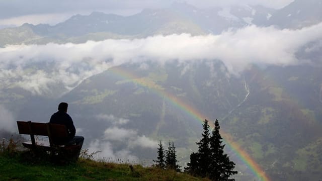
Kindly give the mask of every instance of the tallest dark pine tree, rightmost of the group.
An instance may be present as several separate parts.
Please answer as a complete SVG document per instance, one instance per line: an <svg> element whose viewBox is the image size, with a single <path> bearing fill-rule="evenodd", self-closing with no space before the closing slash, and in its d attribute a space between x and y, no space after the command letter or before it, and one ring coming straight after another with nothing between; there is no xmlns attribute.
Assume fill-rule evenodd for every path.
<svg viewBox="0 0 322 181"><path fill-rule="evenodd" d="M210 137L211 162L209 165L209 178L216 181L234 181L233 178L229 179L229 176L237 173L237 171L233 171L235 163L230 161L229 156L223 152L225 145L222 144L219 129L219 122L216 120Z"/></svg>

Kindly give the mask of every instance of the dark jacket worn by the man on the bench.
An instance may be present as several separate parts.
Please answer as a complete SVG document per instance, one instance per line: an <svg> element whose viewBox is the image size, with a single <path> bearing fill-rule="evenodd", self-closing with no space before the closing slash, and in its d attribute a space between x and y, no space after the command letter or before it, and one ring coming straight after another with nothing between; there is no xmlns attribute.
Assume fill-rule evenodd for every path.
<svg viewBox="0 0 322 181"><path fill-rule="evenodd" d="M75 136L75 133L76 133L75 126L72 122L71 117L65 112L58 111L58 112L54 113L50 117L49 123L62 124L62 125L66 126L67 131L68 131L68 139L64 140L65 142L68 142L69 140L71 140Z"/></svg>

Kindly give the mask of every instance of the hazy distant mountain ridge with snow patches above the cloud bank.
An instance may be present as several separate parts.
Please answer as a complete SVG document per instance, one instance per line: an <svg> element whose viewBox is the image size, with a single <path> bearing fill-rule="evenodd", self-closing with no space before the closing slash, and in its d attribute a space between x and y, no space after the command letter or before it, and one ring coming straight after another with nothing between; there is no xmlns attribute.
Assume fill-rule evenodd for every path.
<svg viewBox="0 0 322 181"><path fill-rule="evenodd" d="M220 34L229 28L241 28L250 24L297 29L322 21L322 13L319 11L321 4L319 0L311 0L310 3L301 6L300 1L297 0L279 10L260 6L203 10L185 3L177 3L168 9L145 9L138 14L126 17L93 12L88 16L74 15L54 26L24 24L17 28L0 29L0 35L2 35L0 46L21 43L79 43L88 40L97 41L98 37L102 40L142 38L155 34ZM299 12L301 16L288 16L299 14L294 11ZM236 20L231 21L225 16L235 16ZM30 32L24 32L23 27ZM19 33L14 33L15 31ZM96 33L99 35L96 36ZM8 36L8 34L14 35Z"/></svg>

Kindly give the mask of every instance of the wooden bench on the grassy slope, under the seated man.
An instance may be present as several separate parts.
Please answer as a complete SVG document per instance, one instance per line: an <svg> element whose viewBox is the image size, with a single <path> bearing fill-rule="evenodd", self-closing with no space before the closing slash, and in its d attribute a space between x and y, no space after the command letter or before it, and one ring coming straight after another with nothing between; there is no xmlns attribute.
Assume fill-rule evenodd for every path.
<svg viewBox="0 0 322 181"><path fill-rule="evenodd" d="M64 140L68 136L65 125L35 123L31 121L17 121L17 125L19 134L30 135L31 141L22 144L33 151L50 151L52 155L55 155L66 151L69 151L70 154L75 154L75 152L81 149L76 145L65 146L63 144L57 144L57 140ZM36 140L35 135L48 136L49 142Z"/></svg>

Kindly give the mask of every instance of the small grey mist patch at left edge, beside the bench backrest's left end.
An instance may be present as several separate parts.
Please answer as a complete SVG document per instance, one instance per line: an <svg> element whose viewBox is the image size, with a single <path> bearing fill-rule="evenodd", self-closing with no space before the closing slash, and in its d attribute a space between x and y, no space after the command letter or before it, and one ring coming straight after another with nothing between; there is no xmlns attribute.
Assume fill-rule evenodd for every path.
<svg viewBox="0 0 322 181"><path fill-rule="evenodd" d="M3 129L11 133L17 132L17 123L13 114L3 105L0 105L0 125L0 131Z"/></svg>

